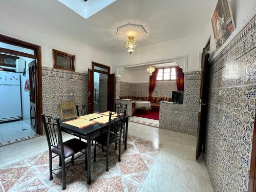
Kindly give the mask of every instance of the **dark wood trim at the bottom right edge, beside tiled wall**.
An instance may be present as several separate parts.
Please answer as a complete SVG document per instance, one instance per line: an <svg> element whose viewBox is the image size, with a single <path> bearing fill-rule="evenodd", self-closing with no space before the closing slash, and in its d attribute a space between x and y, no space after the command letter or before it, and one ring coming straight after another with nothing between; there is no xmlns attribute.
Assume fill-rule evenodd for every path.
<svg viewBox="0 0 256 192"><path fill-rule="evenodd" d="M254 117L254 129L252 136L252 148L251 148L251 164L249 173L249 186L248 192L256 191L256 114Z"/></svg>

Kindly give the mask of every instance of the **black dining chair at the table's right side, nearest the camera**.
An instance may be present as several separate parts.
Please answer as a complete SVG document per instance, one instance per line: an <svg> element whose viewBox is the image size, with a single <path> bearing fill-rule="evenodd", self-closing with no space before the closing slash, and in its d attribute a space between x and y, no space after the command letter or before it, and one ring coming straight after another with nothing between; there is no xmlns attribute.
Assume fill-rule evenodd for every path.
<svg viewBox="0 0 256 192"><path fill-rule="evenodd" d="M118 113L117 118L112 119L112 112L110 112L108 131L102 133L99 137L95 139L93 161L96 161L96 147L98 146L99 148L102 149L102 151L106 152L106 172L109 171L109 163L112 162L114 159L118 157L118 161L121 161L121 136L123 131L125 114L126 110L124 110L122 114L120 113L120 115ZM112 143L119 145L118 155L111 154L111 156L116 157L109 161L110 144ZM104 149L104 146L106 147L106 150Z"/></svg>

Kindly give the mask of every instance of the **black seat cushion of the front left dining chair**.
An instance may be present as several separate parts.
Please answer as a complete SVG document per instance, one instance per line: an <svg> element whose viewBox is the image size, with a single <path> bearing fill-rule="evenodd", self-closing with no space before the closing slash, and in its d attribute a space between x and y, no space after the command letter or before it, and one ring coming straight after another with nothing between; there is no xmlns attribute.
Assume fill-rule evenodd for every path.
<svg viewBox="0 0 256 192"><path fill-rule="evenodd" d="M53 147L52 152L61 156L61 150L60 145L58 145L59 148ZM75 155L76 153L84 150L87 148L87 143L80 141L79 139L70 139L68 141L63 142L63 148L64 148L64 155L65 158L68 158L72 155Z"/></svg>

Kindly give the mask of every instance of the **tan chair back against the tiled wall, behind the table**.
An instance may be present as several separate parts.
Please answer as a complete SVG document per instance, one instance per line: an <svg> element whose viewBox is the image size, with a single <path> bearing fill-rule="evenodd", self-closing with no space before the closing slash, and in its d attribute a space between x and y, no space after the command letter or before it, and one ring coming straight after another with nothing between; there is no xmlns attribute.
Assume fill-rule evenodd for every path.
<svg viewBox="0 0 256 192"><path fill-rule="evenodd" d="M59 103L61 119L77 117L75 101L62 101Z"/></svg>

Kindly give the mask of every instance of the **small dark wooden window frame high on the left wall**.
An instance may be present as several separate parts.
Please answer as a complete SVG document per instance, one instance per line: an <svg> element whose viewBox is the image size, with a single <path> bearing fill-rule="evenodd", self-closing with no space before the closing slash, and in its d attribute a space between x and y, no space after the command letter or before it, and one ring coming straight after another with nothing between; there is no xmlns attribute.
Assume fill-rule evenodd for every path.
<svg viewBox="0 0 256 192"><path fill-rule="evenodd" d="M65 67L58 66L56 63L57 55L59 55L61 57L66 57L66 58L72 59L71 68L65 68ZM53 68L55 68L55 69L62 69L62 70L68 70L68 71L74 71L74 72L76 71L76 68L75 68L76 67L76 56L75 55L53 49L52 50L52 63L53 63Z"/></svg>

